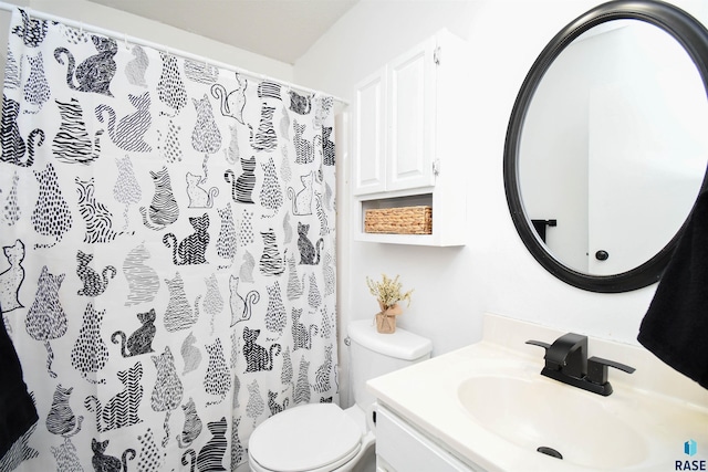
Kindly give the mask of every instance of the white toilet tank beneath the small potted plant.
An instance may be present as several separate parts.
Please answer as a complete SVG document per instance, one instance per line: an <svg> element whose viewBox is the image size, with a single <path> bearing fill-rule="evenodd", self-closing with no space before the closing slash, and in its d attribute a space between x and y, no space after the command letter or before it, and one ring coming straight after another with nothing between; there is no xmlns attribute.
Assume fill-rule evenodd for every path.
<svg viewBox="0 0 708 472"><path fill-rule="evenodd" d="M396 328L395 333L381 334L373 319L357 319L347 326L350 369L354 401L368 411L375 401L366 391L366 381L430 358L433 342L417 334Z"/></svg>

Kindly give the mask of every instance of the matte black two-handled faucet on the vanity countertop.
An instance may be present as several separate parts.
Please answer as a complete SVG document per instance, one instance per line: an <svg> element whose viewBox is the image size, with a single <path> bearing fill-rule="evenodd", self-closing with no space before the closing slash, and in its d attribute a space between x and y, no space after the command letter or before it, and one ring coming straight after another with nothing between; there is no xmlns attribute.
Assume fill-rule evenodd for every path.
<svg viewBox="0 0 708 472"><path fill-rule="evenodd" d="M582 388L602 396L612 394L612 385L607 381L607 367L625 373L634 373L634 367L615 363L601 357L587 358L587 336L566 333L553 342L527 340L527 344L545 349L545 366L541 375L563 384Z"/></svg>

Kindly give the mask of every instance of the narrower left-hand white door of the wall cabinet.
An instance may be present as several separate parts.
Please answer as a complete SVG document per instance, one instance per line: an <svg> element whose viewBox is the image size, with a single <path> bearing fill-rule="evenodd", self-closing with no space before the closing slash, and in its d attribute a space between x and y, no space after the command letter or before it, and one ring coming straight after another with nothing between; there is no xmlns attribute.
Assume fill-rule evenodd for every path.
<svg viewBox="0 0 708 472"><path fill-rule="evenodd" d="M355 90L354 195L386 190L386 70Z"/></svg>

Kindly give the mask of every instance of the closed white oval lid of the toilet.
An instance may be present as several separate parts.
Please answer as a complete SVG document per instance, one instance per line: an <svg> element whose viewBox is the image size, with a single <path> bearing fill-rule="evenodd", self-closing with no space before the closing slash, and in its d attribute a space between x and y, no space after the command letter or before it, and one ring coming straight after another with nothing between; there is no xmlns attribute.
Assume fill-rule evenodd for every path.
<svg viewBox="0 0 708 472"><path fill-rule="evenodd" d="M249 439L249 453L272 471L308 471L337 462L358 448L362 430L340 407L310 403L263 421Z"/></svg>

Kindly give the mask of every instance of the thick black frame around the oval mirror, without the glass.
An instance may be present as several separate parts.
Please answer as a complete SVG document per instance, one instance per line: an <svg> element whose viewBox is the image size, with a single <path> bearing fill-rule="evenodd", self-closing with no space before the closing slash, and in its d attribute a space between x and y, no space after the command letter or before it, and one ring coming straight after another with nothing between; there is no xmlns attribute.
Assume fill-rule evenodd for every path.
<svg viewBox="0 0 708 472"><path fill-rule="evenodd" d="M511 112L503 156L503 179L511 218L535 260L555 277L579 289L600 293L628 292L658 280L676 249L686 222L656 255L644 264L615 275L590 275L577 272L554 259L540 240L521 201L518 156L521 130L533 94L555 57L577 36L593 27L612 20L634 19L660 28L678 41L696 64L708 93L708 30L684 10L656 0L617 0L603 3L573 20L543 49L521 85ZM708 189L708 172L700 191ZM691 210L693 211L693 210Z"/></svg>

